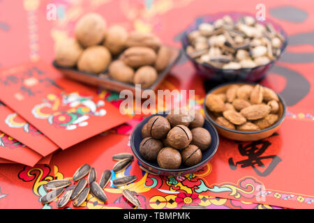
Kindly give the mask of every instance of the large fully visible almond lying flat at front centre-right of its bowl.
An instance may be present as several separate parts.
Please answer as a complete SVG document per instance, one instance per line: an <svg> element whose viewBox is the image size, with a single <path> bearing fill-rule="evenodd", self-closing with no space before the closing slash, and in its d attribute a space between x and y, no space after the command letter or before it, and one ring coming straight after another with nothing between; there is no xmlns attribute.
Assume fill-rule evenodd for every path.
<svg viewBox="0 0 314 223"><path fill-rule="evenodd" d="M264 118L271 111L268 105L251 105L241 110L240 114L248 120L257 120Z"/></svg>

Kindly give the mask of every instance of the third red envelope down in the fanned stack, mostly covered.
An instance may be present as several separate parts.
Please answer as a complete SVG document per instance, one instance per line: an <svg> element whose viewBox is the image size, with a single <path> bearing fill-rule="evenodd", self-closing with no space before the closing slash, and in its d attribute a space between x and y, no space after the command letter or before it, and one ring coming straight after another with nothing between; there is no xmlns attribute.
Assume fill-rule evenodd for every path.
<svg viewBox="0 0 314 223"><path fill-rule="evenodd" d="M42 156L12 137L0 132L0 157L33 167Z"/></svg>

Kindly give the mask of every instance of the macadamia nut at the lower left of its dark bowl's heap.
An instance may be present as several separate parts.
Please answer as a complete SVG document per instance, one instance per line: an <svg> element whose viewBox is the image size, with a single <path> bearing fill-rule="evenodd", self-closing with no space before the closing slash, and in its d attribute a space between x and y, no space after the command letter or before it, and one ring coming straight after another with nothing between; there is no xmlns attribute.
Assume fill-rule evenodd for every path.
<svg viewBox="0 0 314 223"><path fill-rule="evenodd" d="M162 148L163 143L161 141L153 137L147 137L140 143L140 154L145 160L154 161Z"/></svg>

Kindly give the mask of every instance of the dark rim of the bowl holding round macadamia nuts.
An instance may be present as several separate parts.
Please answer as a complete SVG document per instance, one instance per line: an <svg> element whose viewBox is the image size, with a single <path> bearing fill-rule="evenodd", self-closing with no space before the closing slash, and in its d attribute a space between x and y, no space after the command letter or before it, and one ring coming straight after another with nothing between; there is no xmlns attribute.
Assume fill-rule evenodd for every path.
<svg viewBox="0 0 314 223"><path fill-rule="evenodd" d="M165 114L165 112L163 112L163 114ZM156 114L152 114L150 116L147 116L146 118L144 118L140 123L144 122L144 121L147 121L149 120L149 118L153 117L153 116L158 116L160 114L156 113ZM194 166L192 167L186 167L184 169L165 169L165 168L162 168L162 167L156 167L152 164L150 164L148 161L142 159L142 157L140 157L140 154L137 153L136 149L135 149L135 145L133 143L134 141L134 138L135 138L135 130L137 130L138 128L140 128L140 123L138 123L136 125L136 127L134 128L132 134L130 135L130 148L133 152L133 154L135 155L135 157L137 158L137 160L140 162L140 163L144 163L145 165L147 165L148 167L152 167L154 169L157 169L158 171L163 171L163 172L173 172L173 173L178 173L178 172L185 172L185 171L190 171L192 169L195 169L197 167L200 167L202 166L203 164L206 164L207 162L209 162L209 160L211 160L211 158L215 155L215 153L217 152L218 150L218 146L219 146L219 135L218 135L218 132L215 128L215 126L213 125L213 123L211 123L210 121L208 121L206 118L204 118L204 121L206 121L210 126L211 128L213 129L214 131L214 137L216 137L216 146L214 147L214 151L205 159L203 160L202 162L199 162L197 164L195 164ZM213 137L211 135L211 137Z"/></svg>

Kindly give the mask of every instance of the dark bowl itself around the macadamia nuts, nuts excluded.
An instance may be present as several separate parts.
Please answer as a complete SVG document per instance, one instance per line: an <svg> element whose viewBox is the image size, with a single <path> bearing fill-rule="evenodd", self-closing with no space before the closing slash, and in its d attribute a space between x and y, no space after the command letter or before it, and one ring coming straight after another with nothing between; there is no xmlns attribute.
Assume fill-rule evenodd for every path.
<svg viewBox="0 0 314 223"><path fill-rule="evenodd" d="M206 119L203 128L207 129L211 134L211 145L209 146L209 148L207 148L206 151L202 151L202 160L200 163L194 165L193 167L184 167L183 165L181 165L179 169L164 169L159 167L157 161L151 162L145 160L144 157L142 157L142 155L140 154L140 143L142 141L141 130L143 125L149 121L149 118L156 115L164 117L167 116L166 112L164 112L163 114L154 114L145 118L143 121L137 124L135 130L133 130L130 137L130 146L135 157L137 157L137 160L140 162L140 165L142 165L144 169L147 169L154 174L165 176L179 176L190 174L206 166L207 162L209 162L209 160L211 160L211 157L213 157L213 155L216 153L219 144L218 132L216 131L214 126L211 125L211 123L209 123L209 121L207 121Z"/></svg>

